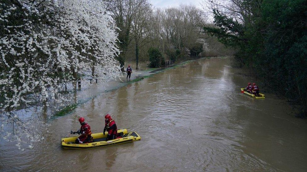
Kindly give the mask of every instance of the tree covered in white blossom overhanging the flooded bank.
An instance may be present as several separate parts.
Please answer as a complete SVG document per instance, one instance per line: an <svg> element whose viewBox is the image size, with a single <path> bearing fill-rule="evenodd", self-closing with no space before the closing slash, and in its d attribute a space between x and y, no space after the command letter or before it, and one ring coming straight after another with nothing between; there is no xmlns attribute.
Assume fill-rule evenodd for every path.
<svg viewBox="0 0 307 172"><path fill-rule="evenodd" d="M69 101L67 84L89 70L96 78L119 76L115 29L103 1L1 1L0 139L18 147L21 136L39 141L38 124L16 110ZM7 124L20 130L6 134Z"/></svg>

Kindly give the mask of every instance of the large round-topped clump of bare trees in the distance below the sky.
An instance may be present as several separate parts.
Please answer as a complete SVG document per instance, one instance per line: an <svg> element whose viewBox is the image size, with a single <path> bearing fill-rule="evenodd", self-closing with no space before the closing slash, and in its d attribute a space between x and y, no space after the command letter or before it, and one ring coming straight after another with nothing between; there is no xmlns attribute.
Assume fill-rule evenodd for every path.
<svg viewBox="0 0 307 172"><path fill-rule="evenodd" d="M155 44L170 59L188 55L196 42L204 38L200 23L205 21L206 16L195 6L157 9L153 13L151 26L156 36Z"/></svg>

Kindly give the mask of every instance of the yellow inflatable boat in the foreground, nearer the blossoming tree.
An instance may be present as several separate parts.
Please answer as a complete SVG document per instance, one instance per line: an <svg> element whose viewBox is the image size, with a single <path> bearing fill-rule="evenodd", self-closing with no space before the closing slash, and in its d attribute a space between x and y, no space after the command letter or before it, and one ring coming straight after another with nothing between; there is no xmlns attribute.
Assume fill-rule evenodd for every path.
<svg viewBox="0 0 307 172"><path fill-rule="evenodd" d="M122 144L133 142L137 140L141 140L141 137L136 132L127 132L127 129L117 130L117 133L124 133L123 138L118 138L114 140L106 141L107 133L103 135L103 133L95 133L92 134L93 141L92 143L84 143L84 144L76 144L75 140L78 138L76 137L69 137L69 138L62 138L61 145L65 149L90 149L90 148L97 148L97 147L105 147L111 146L115 144Z"/></svg>

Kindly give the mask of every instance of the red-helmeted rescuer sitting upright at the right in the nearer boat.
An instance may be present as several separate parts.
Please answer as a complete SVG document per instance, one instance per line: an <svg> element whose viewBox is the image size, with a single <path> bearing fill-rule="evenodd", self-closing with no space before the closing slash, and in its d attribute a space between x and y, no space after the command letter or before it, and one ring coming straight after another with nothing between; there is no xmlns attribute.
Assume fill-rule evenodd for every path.
<svg viewBox="0 0 307 172"><path fill-rule="evenodd" d="M103 129L103 135L105 135L105 132L108 132L107 140L113 140L115 138L121 138L121 136L118 136L117 134L117 126L114 121L114 119L111 118L110 114L106 114L104 116L105 126Z"/></svg>

